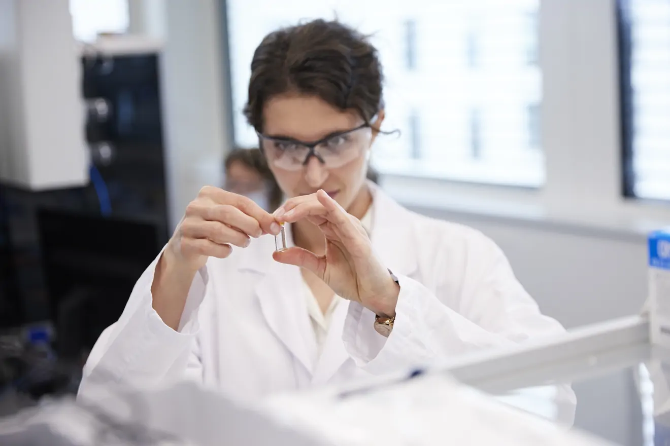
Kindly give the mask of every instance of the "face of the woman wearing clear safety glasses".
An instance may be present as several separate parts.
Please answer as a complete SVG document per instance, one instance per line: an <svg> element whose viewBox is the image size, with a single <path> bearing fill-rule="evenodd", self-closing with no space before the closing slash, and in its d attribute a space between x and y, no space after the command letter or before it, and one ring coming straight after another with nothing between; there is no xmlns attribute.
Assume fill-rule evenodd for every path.
<svg viewBox="0 0 670 446"><path fill-rule="evenodd" d="M375 122L379 128L383 115ZM284 94L267 101L263 109L263 135L272 138L290 138L302 142L315 142L326 136L352 130L364 124L356 112L342 112L316 96ZM348 162L329 166L311 156L307 164L293 169L282 169L273 162L273 155L266 152L268 164L281 190L287 197L308 195L324 189L344 209L349 209L365 184L368 154L375 134L369 128L352 133L356 147L347 150ZM322 146L317 151L324 150ZM351 158L351 160L349 160Z"/></svg>

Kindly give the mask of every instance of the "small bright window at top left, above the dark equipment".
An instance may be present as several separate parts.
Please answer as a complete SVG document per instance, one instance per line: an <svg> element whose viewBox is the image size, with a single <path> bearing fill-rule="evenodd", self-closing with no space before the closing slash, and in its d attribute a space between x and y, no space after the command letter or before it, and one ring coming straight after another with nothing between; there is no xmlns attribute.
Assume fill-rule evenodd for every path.
<svg viewBox="0 0 670 446"><path fill-rule="evenodd" d="M92 42L98 33L128 30L129 0L70 0L74 38Z"/></svg>

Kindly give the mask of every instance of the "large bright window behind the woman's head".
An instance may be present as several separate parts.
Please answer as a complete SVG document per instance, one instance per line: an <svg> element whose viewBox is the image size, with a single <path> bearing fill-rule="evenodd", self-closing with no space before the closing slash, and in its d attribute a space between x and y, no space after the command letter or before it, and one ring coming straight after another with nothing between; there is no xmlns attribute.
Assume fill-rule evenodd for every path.
<svg viewBox="0 0 670 446"><path fill-rule="evenodd" d="M539 0L431 1L421 7L388 7L383 0L226 4L236 144L258 143L242 110L251 57L263 36L282 25L338 17L372 35L384 65L384 126L400 133L377 138L372 162L379 171L543 185L543 151L528 150L528 108L542 100L539 66L529 64L529 47L536 47L538 37L529 17L537 16ZM480 116L476 150L472 110ZM416 116L420 138L411 128L419 128Z"/></svg>

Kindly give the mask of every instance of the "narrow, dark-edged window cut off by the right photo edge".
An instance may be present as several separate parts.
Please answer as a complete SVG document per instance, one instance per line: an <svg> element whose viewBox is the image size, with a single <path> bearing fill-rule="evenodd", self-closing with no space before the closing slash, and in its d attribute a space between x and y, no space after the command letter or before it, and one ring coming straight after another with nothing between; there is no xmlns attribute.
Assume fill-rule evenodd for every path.
<svg viewBox="0 0 670 446"><path fill-rule="evenodd" d="M670 199L670 0L618 11L624 195Z"/></svg>

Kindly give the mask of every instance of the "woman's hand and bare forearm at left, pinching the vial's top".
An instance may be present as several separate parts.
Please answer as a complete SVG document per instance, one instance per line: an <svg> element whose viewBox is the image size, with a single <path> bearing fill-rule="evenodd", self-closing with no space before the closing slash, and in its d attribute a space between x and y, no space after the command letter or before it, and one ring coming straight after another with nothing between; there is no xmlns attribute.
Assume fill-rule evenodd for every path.
<svg viewBox="0 0 670 446"><path fill-rule="evenodd" d="M253 200L218 187L203 187L186 207L156 265L153 309L165 325L178 330L188 290L208 257L228 257L232 245L247 247L250 237L277 235L280 230L274 217Z"/></svg>

